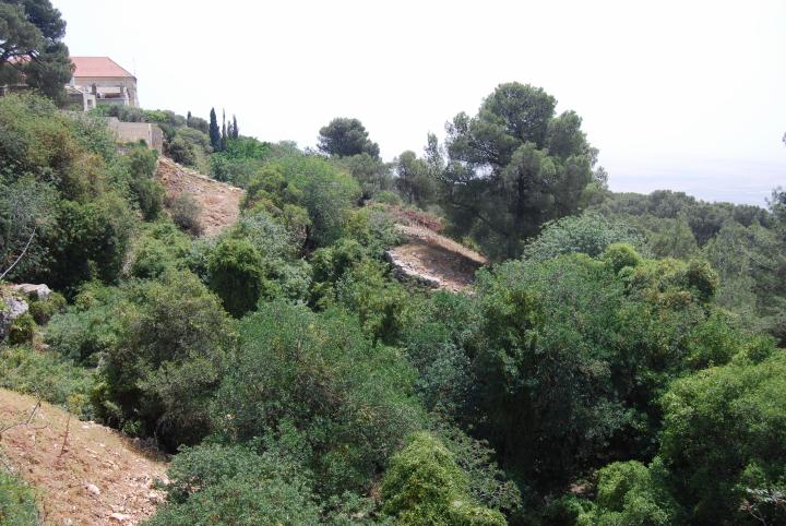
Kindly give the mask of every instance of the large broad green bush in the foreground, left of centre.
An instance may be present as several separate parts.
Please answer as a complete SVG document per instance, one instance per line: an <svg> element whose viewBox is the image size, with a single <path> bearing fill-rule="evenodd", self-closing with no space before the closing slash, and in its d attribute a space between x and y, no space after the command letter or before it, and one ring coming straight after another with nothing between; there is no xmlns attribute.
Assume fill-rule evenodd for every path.
<svg viewBox="0 0 786 526"><path fill-rule="evenodd" d="M285 434L322 493L370 488L421 418L401 355L371 346L346 314L281 300L260 303L239 332L214 406L223 440Z"/></svg>

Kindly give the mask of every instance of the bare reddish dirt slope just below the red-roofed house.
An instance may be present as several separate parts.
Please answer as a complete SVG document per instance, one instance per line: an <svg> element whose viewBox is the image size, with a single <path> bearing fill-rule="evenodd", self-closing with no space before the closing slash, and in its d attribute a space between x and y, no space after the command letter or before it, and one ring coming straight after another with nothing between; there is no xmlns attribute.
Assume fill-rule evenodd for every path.
<svg viewBox="0 0 786 526"><path fill-rule="evenodd" d="M202 205L201 220L206 236L218 234L237 222L243 195L239 188L205 177L167 157L159 157L156 179L166 189L168 199L181 193L193 194Z"/></svg>

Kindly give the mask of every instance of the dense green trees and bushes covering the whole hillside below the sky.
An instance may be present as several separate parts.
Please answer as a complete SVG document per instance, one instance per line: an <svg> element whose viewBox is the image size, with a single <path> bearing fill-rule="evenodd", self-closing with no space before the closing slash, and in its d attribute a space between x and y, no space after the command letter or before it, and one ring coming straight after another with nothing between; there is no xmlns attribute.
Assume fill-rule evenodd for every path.
<svg viewBox="0 0 786 526"><path fill-rule="evenodd" d="M14 322L0 386L171 454L154 525L783 524L784 193L614 194L555 106L502 84L386 164L357 119L317 153L0 98L0 272L62 294ZM238 223L199 238L106 115L242 187ZM474 294L393 278L403 206L493 261Z"/></svg>

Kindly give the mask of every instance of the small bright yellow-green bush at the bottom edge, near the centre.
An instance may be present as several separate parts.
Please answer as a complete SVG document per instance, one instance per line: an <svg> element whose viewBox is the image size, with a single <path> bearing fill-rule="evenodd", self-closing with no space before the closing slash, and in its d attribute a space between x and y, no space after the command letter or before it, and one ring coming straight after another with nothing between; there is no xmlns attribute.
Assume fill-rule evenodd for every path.
<svg viewBox="0 0 786 526"><path fill-rule="evenodd" d="M439 440L416 433L391 458L380 489L383 513L403 525L505 525L498 511L475 505L469 481Z"/></svg>

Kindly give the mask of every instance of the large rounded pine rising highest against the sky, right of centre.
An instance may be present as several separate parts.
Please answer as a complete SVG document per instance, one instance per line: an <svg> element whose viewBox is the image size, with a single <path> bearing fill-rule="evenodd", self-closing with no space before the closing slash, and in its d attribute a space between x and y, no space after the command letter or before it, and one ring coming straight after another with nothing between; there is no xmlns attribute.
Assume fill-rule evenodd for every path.
<svg viewBox="0 0 786 526"><path fill-rule="evenodd" d="M443 206L493 256L517 255L545 222L575 213L593 182L597 150L556 105L543 88L500 84L475 117L446 125Z"/></svg>

